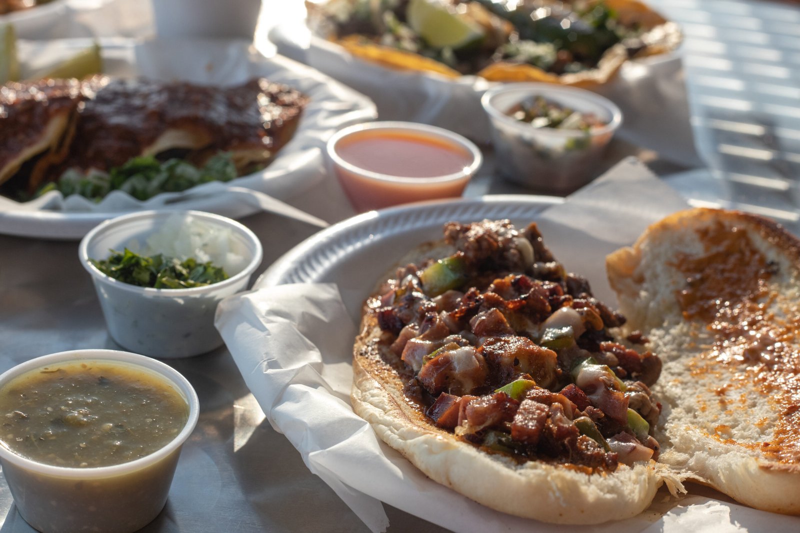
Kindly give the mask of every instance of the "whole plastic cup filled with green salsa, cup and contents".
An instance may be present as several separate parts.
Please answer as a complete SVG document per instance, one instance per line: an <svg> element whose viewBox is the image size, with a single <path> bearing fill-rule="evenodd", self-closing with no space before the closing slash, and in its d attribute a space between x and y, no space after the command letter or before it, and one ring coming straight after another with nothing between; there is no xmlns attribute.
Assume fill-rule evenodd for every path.
<svg viewBox="0 0 800 533"><path fill-rule="evenodd" d="M115 350L38 357L0 376L0 465L43 533L128 533L161 512L198 396L158 360Z"/></svg>

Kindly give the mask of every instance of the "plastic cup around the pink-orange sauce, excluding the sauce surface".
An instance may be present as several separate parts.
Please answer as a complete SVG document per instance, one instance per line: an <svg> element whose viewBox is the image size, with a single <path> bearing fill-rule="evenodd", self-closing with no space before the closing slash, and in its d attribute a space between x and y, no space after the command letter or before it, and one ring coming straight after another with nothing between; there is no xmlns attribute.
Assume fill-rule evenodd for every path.
<svg viewBox="0 0 800 533"><path fill-rule="evenodd" d="M375 172L359 168L342 157L338 150L342 143L356 141L357 137L366 138L370 134L413 138L443 152L458 153L463 157L464 165L446 175L434 173L426 177L409 177L403 175L402 168L392 169L391 173ZM390 145L387 144L386 149L391 149ZM366 122L341 129L330 137L327 153L342 189L358 212L413 201L460 197L483 161L478 147L458 133L432 125L402 121ZM382 153L374 153L374 157L382 157Z"/></svg>

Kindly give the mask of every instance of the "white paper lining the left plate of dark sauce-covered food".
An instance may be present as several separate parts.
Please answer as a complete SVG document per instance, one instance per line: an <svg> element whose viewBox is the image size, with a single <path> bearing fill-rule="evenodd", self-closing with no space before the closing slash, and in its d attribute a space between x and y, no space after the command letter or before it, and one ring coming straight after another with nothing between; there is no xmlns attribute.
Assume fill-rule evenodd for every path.
<svg viewBox="0 0 800 533"><path fill-rule="evenodd" d="M21 42L23 73L41 70L90 44L89 40L82 39ZM101 40L101 46L106 74L111 76L143 76L219 86L233 86L250 78L263 77L301 90L310 101L292 140L261 172L226 184L213 182L182 193L158 194L147 201L138 201L120 191L110 193L98 203L77 195L65 199L58 192L28 202L0 197L0 215L42 210L122 213L141 209L202 209L242 217L256 212L259 205L258 197L246 198L246 189L286 198L318 184L326 177L324 149L327 139L346 125L369 121L376 116L374 104L362 94L290 59L266 58L244 41L110 39Z"/></svg>

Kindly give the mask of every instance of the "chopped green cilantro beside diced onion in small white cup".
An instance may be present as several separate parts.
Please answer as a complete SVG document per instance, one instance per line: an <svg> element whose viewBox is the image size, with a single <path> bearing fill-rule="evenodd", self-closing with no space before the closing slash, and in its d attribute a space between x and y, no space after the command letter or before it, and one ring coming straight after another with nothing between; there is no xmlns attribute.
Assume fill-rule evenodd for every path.
<svg viewBox="0 0 800 533"><path fill-rule="evenodd" d="M138 287L150 288L193 288L203 287L228 279L222 267L208 263L198 263L190 257L180 261L175 257L140 256L125 249L124 252L111 250L108 259L89 260L106 276Z"/></svg>

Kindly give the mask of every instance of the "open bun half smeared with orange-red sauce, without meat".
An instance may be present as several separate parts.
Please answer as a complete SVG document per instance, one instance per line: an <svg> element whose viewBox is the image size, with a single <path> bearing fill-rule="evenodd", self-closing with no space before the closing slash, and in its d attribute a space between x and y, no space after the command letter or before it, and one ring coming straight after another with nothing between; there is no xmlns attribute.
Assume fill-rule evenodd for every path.
<svg viewBox="0 0 800 533"><path fill-rule="evenodd" d="M757 215L690 209L606 265L627 327L665 361L660 460L752 507L800 514L800 240ZM705 314L686 306L698 295L713 304Z"/></svg>

